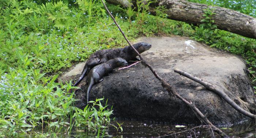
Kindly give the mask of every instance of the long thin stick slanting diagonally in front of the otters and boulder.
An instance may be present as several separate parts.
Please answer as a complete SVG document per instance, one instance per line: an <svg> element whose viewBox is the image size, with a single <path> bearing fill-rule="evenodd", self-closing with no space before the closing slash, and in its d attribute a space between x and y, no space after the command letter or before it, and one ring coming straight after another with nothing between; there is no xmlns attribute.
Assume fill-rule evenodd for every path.
<svg viewBox="0 0 256 138"><path fill-rule="evenodd" d="M204 114L197 109L197 107L195 105L193 105L192 102L188 102L187 100L185 100L183 97L181 97L178 93L177 90L172 87L170 84L168 84L165 80L163 80L158 74L157 72L155 72L155 70L142 58L142 56L139 54L139 52L132 46L132 44L130 43L130 41L127 39L127 37L124 35L124 32L122 31L122 29L120 28L120 26L117 24L116 20L114 19L114 17L112 16L112 14L109 12L108 8L106 7L105 3L103 0L101 0L102 4L104 5L106 11L109 13L109 15L111 16L111 18L113 19L114 23L116 24L116 26L118 27L119 31L122 33L122 35L124 36L125 40L128 42L129 46L131 46L133 48L133 50L135 50L135 52L138 54L138 56L140 57L142 64L144 66L147 66L151 72L154 74L154 76L162 83L162 86L164 88L167 89L167 92L169 94L169 96L176 96L177 98L179 98L180 100L182 100L183 102L185 102L189 107L191 107L191 109L196 113L196 115L198 117L200 117L204 122L206 122L207 125L209 125L210 127L212 127L212 129L217 132L221 137L229 137L227 134L225 134L222 130L218 129L216 126L212 125L212 123L207 119L206 116L204 116Z"/></svg>

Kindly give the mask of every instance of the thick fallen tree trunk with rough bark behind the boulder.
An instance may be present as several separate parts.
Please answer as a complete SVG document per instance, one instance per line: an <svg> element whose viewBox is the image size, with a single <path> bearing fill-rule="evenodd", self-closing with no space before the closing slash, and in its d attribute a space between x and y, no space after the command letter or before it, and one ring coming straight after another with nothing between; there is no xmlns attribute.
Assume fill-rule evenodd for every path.
<svg viewBox="0 0 256 138"><path fill-rule="evenodd" d="M128 7L129 5L136 6L136 0L131 0L131 3L129 3L128 0L106 1L116 5L120 4L123 7ZM168 19L193 24L202 24L200 20L204 19L203 9L207 7L212 8L214 9L213 12L216 13L212 16L212 20L215 21L218 29L256 39L256 19L249 15L231 9L191 3L185 0L157 0L157 2L150 4L149 12L155 15L154 9L161 5L165 6L167 9L165 13L168 15Z"/></svg>

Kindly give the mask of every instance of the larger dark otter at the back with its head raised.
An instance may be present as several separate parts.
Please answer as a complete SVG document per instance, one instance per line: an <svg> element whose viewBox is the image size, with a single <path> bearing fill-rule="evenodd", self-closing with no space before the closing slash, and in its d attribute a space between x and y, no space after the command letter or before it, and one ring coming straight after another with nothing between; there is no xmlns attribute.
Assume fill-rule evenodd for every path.
<svg viewBox="0 0 256 138"><path fill-rule="evenodd" d="M139 53L142 53L151 48L151 44L148 44L146 42L139 42L132 46ZM73 86L78 85L78 83L83 79L83 77L86 76L90 72L90 70L96 65L102 64L116 57L124 58L124 60L126 61L135 61L135 60L138 60L136 56L138 55L132 49L131 46L125 46L124 48L116 48L116 49L98 50L97 52L94 52L93 54L91 54L91 56L88 58L86 64L84 65L84 68L80 77L78 78L78 80L75 82Z"/></svg>

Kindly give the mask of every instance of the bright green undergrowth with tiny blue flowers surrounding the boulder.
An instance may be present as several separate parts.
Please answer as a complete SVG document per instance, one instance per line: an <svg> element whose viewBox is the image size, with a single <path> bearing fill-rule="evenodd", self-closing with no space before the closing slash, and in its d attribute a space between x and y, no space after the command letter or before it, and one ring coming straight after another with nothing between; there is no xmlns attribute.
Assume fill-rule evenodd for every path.
<svg viewBox="0 0 256 138"><path fill-rule="evenodd" d="M228 1L191 1L255 17L253 0L231 7ZM151 2L148 0L148 4ZM152 16L148 5L140 1L137 10L107 6L129 40L154 35L188 36L241 55L256 89L255 39L215 29L211 19L202 20L202 24L212 23L210 26L168 20L165 7L157 7L157 16ZM102 105L103 99L99 99L92 106L77 109L72 104L74 94L68 93L71 82L56 83L62 69L86 60L91 53L126 45L102 4L96 0L1 0L0 9L0 135L53 137L60 131L70 133L72 128L88 128L98 137L104 135L112 108ZM213 14L206 9L205 17Z"/></svg>

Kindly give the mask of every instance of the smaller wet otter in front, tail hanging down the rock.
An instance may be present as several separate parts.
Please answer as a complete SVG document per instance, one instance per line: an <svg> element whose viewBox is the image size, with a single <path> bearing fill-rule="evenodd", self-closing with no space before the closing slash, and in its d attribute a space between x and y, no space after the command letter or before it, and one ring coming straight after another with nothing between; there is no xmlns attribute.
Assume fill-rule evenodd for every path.
<svg viewBox="0 0 256 138"><path fill-rule="evenodd" d="M93 84L99 83L102 81L102 77L108 75L108 73L112 72L114 68L120 66L127 66L128 63L123 58L117 57L112 60L109 60L105 63L99 64L90 70L88 75L86 76L87 83L87 104L89 101L89 92L91 90L91 86Z"/></svg>

